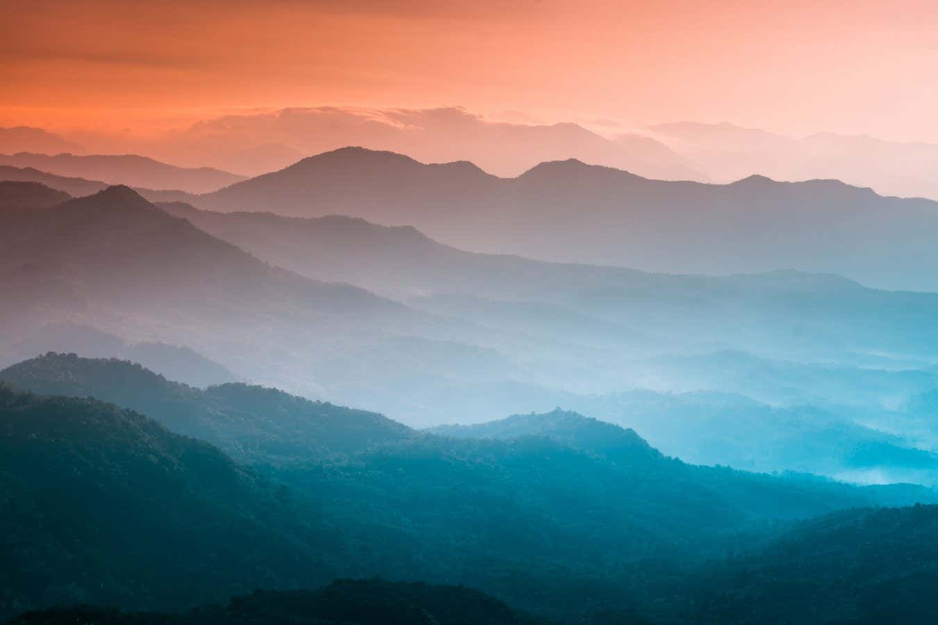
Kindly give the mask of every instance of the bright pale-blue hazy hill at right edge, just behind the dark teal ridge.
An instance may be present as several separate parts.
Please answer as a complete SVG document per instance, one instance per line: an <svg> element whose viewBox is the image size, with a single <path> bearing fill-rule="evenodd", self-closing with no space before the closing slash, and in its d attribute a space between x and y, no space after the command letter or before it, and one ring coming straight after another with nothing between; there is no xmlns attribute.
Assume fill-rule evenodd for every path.
<svg viewBox="0 0 938 625"><path fill-rule="evenodd" d="M915 410L843 405L770 406L703 391L636 390L545 397L633 427L662 453L693 464L793 470L861 484L938 484L928 419Z"/></svg>

